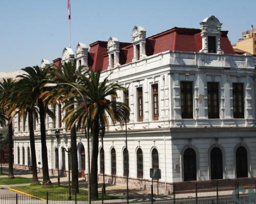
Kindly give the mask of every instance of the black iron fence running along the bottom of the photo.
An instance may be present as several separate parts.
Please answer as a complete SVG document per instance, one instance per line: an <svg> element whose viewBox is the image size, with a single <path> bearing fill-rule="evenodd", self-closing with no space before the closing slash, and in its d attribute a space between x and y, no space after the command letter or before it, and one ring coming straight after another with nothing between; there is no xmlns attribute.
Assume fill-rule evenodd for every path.
<svg viewBox="0 0 256 204"><path fill-rule="evenodd" d="M99 190L92 203L172 203L222 204L256 203L256 179L180 182L152 186L106 187ZM69 195L69 191L44 191L31 194L0 195L0 204L87 203L88 193Z"/></svg>

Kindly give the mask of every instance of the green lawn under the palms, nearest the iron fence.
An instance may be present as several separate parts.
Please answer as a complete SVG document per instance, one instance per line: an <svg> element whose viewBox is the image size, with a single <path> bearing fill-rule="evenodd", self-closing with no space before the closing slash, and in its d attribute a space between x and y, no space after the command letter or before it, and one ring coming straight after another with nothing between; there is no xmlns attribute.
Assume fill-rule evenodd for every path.
<svg viewBox="0 0 256 204"><path fill-rule="evenodd" d="M69 200L69 188L66 186L58 186L53 184L48 188L43 187L41 184L31 185L31 186L17 186L13 189L23 191L29 193L35 197L39 198L47 198L48 192L48 199L49 200ZM88 191L79 189L79 194L72 194L71 199L77 201L86 201L88 199ZM117 199L118 197L105 195L104 199ZM101 199L101 194L99 193L99 198Z"/></svg>

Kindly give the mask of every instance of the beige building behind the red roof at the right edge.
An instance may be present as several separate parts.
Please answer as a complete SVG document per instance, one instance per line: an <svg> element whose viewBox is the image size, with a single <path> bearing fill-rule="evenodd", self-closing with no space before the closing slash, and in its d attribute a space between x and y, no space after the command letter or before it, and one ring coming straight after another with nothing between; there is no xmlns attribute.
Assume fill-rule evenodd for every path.
<svg viewBox="0 0 256 204"><path fill-rule="evenodd" d="M242 38L238 40L237 44L233 45L233 48L256 55L256 30L253 29L253 25L251 25L251 30L242 33ZM238 52L241 52L240 50Z"/></svg>

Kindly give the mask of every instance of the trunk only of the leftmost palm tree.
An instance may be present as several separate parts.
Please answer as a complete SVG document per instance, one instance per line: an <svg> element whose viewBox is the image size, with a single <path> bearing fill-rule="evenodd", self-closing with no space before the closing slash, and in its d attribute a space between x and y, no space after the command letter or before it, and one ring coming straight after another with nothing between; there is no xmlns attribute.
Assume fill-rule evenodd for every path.
<svg viewBox="0 0 256 204"><path fill-rule="evenodd" d="M9 118L9 123L8 123L8 145L9 145L9 172L8 172L8 177L9 179L14 179L14 174L13 174L13 142L12 142L12 119Z"/></svg>

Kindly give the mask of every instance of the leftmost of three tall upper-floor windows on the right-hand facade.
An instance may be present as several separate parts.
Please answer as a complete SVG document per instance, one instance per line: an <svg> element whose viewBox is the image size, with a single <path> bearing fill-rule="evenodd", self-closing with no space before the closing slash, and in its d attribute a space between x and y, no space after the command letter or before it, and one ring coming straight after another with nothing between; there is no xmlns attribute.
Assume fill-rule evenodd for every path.
<svg viewBox="0 0 256 204"><path fill-rule="evenodd" d="M180 82L181 117L193 118L193 83Z"/></svg>

